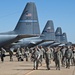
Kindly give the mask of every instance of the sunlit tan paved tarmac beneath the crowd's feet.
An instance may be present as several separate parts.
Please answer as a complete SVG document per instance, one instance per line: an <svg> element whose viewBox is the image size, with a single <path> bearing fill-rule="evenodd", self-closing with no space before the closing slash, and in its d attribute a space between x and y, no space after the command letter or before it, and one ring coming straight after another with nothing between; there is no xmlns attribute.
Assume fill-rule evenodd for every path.
<svg viewBox="0 0 75 75"><path fill-rule="evenodd" d="M45 62L39 65L38 70L33 70L33 62L18 62L16 56L13 57L13 62L10 62L9 56L5 57L5 61L0 61L0 75L75 75L75 66L70 69L61 67L61 70L56 70L54 62L51 62L51 70L46 70Z"/></svg>

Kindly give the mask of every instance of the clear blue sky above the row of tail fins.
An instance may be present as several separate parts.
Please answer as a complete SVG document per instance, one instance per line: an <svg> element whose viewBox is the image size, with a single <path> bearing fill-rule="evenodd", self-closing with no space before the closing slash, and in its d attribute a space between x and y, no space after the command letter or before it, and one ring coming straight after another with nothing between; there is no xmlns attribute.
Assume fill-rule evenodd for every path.
<svg viewBox="0 0 75 75"><path fill-rule="evenodd" d="M27 2L36 4L41 31L47 20L53 20L55 30L61 27L75 43L75 0L0 0L0 32L15 28Z"/></svg>

